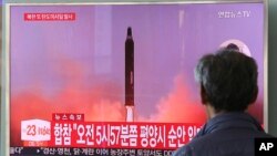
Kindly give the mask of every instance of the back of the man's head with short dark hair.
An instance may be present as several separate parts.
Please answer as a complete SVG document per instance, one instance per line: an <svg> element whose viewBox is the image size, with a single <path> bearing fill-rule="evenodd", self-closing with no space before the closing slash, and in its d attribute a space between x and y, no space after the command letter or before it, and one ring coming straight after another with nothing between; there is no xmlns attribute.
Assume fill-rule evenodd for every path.
<svg viewBox="0 0 277 156"><path fill-rule="evenodd" d="M243 112L257 97L257 64L235 49L204 55L196 69L202 102L215 112Z"/></svg>

